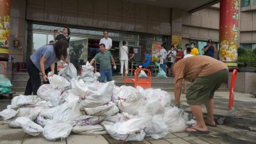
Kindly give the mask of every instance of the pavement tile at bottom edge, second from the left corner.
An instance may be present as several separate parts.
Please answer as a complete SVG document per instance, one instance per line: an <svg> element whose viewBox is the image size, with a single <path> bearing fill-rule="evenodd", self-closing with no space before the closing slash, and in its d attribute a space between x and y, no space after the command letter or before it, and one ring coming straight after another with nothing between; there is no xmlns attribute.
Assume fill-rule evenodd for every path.
<svg viewBox="0 0 256 144"><path fill-rule="evenodd" d="M30 136L26 134L22 144L35 144L35 143L42 143L42 144L66 144L66 140L63 139L62 141L48 141L43 136Z"/></svg>

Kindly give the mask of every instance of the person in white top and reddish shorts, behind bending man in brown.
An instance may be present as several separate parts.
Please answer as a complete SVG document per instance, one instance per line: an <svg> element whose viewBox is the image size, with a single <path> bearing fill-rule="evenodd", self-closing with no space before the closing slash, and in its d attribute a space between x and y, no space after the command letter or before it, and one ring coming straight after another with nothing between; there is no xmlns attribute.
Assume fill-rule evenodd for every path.
<svg viewBox="0 0 256 144"><path fill-rule="evenodd" d="M177 52L174 49L174 45L171 45L171 49L167 52L166 60L168 67L168 76L173 76L173 64L175 63L175 56Z"/></svg>

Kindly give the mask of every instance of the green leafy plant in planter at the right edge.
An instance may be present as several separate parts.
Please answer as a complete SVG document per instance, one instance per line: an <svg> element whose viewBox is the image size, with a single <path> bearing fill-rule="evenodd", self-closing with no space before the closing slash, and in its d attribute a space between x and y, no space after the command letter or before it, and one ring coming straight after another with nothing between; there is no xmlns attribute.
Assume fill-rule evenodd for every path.
<svg viewBox="0 0 256 144"><path fill-rule="evenodd" d="M256 49L244 51L238 48L239 72L256 72Z"/></svg>

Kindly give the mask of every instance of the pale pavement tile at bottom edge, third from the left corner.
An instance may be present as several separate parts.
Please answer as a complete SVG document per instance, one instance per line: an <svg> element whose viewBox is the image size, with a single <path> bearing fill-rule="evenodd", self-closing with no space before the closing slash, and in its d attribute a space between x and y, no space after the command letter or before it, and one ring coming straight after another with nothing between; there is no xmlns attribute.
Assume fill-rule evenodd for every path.
<svg viewBox="0 0 256 144"><path fill-rule="evenodd" d="M70 134L67 138L68 144L108 144L108 141L101 135L99 136L86 136L79 134Z"/></svg>

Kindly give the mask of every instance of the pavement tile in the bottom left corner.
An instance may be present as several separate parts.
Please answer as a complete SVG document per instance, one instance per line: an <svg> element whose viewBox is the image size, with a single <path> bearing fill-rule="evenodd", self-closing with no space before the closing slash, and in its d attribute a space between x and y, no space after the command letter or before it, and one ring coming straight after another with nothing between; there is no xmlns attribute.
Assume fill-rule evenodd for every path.
<svg viewBox="0 0 256 144"><path fill-rule="evenodd" d="M21 144L24 134L22 129L0 129L0 143Z"/></svg>

